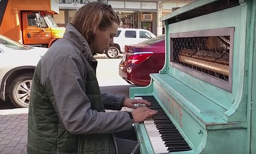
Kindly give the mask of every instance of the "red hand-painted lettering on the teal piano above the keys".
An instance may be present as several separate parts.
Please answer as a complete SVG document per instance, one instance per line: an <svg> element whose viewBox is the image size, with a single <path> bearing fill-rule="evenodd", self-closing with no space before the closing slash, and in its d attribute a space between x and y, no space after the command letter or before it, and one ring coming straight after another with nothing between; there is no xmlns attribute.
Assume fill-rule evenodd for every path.
<svg viewBox="0 0 256 154"><path fill-rule="evenodd" d="M172 117L180 124L180 127L183 127L181 123L181 118L183 116L182 108L177 101L175 101L170 95L168 95L163 89L157 88L158 98L166 105L169 109Z"/></svg>

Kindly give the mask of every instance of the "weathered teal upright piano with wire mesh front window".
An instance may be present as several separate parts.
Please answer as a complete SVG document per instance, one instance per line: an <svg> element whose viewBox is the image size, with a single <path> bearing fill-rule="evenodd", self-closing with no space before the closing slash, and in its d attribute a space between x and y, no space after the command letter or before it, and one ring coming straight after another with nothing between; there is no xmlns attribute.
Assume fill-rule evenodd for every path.
<svg viewBox="0 0 256 154"><path fill-rule="evenodd" d="M135 124L141 154L256 154L256 1L197 0L161 21L165 65L130 88L158 110Z"/></svg>

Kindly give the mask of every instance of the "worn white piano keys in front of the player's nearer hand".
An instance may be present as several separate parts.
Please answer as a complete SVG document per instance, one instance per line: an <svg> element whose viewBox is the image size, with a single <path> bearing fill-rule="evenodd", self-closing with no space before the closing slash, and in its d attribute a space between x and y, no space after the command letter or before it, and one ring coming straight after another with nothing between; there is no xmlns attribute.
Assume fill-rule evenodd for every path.
<svg viewBox="0 0 256 154"><path fill-rule="evenodd" d="M164 142L162 141L161 136L153 123L153 120L147 119L144 121L144 124L155 153L168 153L167 147L165 147Z"/></svg>

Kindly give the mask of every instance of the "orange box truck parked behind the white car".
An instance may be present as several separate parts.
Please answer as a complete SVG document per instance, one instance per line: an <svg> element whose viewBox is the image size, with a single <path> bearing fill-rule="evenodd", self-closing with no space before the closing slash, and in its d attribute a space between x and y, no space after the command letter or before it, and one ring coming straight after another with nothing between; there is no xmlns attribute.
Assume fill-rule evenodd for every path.
<svg viewBox="0 0 256 154"><path fill-rule="evenodd" d="M50 47L63 37L52 15L58 0L0 0L0 33L25 45Z"/></svg>

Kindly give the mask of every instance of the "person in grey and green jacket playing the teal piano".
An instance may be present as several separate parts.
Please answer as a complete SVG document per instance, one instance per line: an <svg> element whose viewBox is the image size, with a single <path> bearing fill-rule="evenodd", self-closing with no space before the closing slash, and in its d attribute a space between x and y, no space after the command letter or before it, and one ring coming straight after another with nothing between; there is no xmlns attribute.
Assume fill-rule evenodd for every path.
<svg viewBox="0 0 256 154"><path fill-rule="evenodd" d="M102 54L117 33L120 20L110 5L81 7L38 62L28 117L28 154L128 154L137 144L133 123L156 114L126 99L102 94L95 75L95 53ZM106 113L105 109L121 110ZM139 148L135 154L139 153Z"/></svg>

